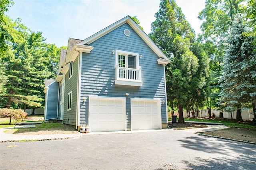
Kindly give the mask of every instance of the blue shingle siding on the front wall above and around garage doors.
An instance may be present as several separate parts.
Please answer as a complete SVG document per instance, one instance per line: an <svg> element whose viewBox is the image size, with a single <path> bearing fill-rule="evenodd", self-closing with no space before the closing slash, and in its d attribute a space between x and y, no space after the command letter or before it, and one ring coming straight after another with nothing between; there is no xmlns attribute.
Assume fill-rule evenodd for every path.
<svg viewBox="0 0 256 170"><path fill-rule="evenodd" d="M131 32L124 35L124 30ZM81 106L80 124L88 124L88 100L83 99L89 95L126 97L127 129L130 129L130 98L159 98L165 100L164 66L156 61L159 57L128 25L124 24L112 32L89 44L94 47L91 53L82 54L82 80L81 80ZM122 50L142 55L139 65L142 68L141 87L115 85L116 55L113 50ZM161 105L162 123L166 122L166 105Z"/></svg>

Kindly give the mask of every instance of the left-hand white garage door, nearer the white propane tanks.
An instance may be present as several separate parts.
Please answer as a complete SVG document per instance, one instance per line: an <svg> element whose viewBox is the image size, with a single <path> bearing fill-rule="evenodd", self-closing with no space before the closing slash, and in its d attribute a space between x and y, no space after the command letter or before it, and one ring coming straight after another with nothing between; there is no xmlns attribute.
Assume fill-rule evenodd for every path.
<svg viewBox="0 0 256 170"><path fill-rule="evenodd" d="M92 132L126 130L126 98L89 97Z"/></svg>

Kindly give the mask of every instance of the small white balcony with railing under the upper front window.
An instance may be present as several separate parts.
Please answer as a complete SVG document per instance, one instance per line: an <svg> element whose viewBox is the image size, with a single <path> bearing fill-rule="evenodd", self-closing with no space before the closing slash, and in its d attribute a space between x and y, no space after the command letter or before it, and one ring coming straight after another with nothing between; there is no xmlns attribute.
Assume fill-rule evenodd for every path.
<svg viewBox="0 0 256 170"><path fill-rule="evenodd" d="M116 65L116 85L142 86L141 67L138 69Z"/></svg>

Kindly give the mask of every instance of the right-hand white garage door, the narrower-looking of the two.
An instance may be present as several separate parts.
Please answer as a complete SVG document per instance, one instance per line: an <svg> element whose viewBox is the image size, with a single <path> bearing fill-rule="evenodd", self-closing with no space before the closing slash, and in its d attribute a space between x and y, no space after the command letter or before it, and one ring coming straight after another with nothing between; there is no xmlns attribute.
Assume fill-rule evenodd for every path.
<svg viewBox="0 0 256 170"><path fill-rule="evenodd" d="M162 128L160 100L131 99L132 130Z"/></svg>

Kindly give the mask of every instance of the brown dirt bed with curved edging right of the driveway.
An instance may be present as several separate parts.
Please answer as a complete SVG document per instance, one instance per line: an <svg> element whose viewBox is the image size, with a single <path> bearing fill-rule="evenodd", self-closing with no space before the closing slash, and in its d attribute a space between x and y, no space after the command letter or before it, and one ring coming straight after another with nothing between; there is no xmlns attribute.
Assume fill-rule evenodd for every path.
<svg viewBox="0 0 256 170"><path fill-rule="evenodd" d="M255 129L253 128L228 128L223 130L202 132L202 134L256 143L256 133Z"/></svg>

